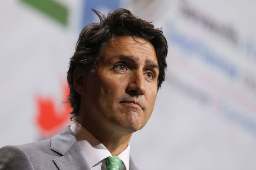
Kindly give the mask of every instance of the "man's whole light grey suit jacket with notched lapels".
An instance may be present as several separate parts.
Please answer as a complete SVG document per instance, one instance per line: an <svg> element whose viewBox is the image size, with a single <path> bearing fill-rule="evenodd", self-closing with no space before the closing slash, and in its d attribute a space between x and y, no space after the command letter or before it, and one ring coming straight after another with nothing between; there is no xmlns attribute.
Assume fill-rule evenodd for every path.
<svg viewBox="0 0 256 170"><path fill-rule="evenodd" d="M0 148L0 169L90 170L69 127L51 139ZM131 157L129 170L138 170Z"/></svg>

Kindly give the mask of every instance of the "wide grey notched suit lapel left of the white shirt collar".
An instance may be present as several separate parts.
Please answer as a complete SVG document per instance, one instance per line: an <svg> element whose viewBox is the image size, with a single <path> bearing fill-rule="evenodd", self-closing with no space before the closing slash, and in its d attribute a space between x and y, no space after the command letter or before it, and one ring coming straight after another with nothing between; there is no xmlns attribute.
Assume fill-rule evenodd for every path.
<svg viewBox="0 0 256 170"><path fill-rule="evenodd" d="M76 141L76 137L70 130L70 126L51 138L50 149L61 155L61 157L53 159L60 170L91 169Z"/></svg>

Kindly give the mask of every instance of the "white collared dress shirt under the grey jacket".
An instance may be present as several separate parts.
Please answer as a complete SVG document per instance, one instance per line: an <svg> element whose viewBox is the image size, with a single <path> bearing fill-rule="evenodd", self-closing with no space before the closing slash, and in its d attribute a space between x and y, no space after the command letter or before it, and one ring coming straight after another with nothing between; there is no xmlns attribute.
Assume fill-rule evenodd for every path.
<svg viewBox="0 0 256 170"><path fill-rule="evenodd" d="M70 129L74 133L91 170L106 170L104 159L111 156L108 149L77 121L71 125ZM120 170L129 170L130 144L117 156L123 161Z"/></svg>

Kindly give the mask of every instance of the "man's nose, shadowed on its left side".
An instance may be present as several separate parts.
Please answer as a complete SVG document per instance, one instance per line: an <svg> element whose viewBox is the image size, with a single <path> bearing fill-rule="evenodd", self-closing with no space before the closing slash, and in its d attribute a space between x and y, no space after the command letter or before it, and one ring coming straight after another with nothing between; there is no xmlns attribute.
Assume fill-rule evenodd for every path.
<svg viewBox="0 0 256 170"><path fill-rule="evenodd" d="M145 93L145 77L141 71L136 71L130 75L127 91L132 96L143 95Z"/></svg>

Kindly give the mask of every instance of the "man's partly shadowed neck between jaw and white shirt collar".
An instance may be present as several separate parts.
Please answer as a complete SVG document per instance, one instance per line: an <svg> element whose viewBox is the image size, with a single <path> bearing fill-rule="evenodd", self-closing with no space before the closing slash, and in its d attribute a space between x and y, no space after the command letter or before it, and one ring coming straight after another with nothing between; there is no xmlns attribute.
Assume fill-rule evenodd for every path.
<svg viewBox="0 0 256 170"><path fill-rule="evenodd" d="M126 149L132 137L132 133L118 133L118 131L113 130L114 128L106 128L109 127L109 125L99 125L93 121L86 120L88 119L79 117L77 122L96 137L108 149L111 155L117 156Z"/></svg>

